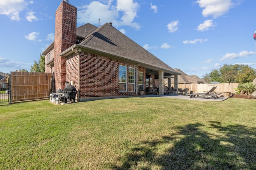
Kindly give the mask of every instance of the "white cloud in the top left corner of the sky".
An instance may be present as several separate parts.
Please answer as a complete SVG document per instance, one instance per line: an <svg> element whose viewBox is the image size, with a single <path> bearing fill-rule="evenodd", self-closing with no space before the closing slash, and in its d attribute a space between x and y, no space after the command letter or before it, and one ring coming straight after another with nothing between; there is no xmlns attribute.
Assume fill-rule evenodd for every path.
<svg viewBox="0 0 256 170"><path fill-rule="evenodd" d="M1 0L0 14L7 15L11 20L19 21L20 12L26 8L27 4L24 0Z"/></svg>

